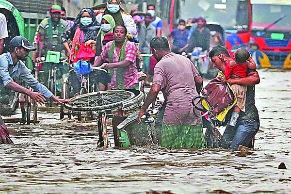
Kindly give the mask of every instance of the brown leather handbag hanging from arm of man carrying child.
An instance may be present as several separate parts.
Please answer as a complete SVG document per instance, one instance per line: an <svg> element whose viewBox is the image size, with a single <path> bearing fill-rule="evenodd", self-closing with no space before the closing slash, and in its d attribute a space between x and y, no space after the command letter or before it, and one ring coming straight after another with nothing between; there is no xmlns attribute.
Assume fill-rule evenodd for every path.
<svg viewBox="0 0 291 194"><path fill-rule="evenodd" d="M210 118L216 117L219 113L223 112L234 103L234 94L227 83L222 82L222 79L222 76L218 76L211 80L209 84L201 91L202 97L198 97L200 100L197 103L194 103L194 100L197 97L193 98L192 103L194 105L194 109L206 112L202 116L208 114ZM206 101L210 107L210 110L207 111L205 108L197 106L202 100Z"/></svg>

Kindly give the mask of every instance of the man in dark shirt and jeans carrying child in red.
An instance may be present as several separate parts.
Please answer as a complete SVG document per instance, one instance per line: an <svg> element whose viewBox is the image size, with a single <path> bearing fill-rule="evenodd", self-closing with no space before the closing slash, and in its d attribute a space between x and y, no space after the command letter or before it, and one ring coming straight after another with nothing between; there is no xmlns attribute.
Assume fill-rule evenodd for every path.
<svg viewBox="0 0 291 194"><path fill-rule="evenodd" d="M225 47L215 46L209 52L209 57L213 63L213 66L217 67L219 70L223 70L227 64L229 64L228 66L230 68L234 68L238 62L243 62L237 58L240 58L240 53L245 53L245 51L242 49L238 50L238 52L239 54L236 53L237 57L235 58L235 62L233 62L234 59L230 57ZM252 148L252 139L259 130L259 114L255 106L255 84L259 83L259 74L254 69L254 63L251 58L249 58L248 61L250 64L247 62L247 66L250 68L246 69L246 77L239 75L238 78L234 78L230 75L229 79L225 79L225 81L230 85L239 84L246 86L245 111L239 113L237 123L235 124L234 122L235 126L227 125L222 136L221 146L226 149L237 149L240 145ZM235 73L237 72L234 70L231 72L231 74ZM243 97L244 95L241 96Z"/></svg>

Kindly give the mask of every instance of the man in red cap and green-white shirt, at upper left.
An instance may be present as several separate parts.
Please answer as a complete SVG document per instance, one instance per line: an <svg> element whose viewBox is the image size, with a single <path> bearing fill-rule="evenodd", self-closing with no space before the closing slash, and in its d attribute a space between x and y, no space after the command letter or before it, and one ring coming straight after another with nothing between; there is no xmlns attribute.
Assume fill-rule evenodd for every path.
<svg viewBox="0 0 291 194"><path fill-rule="evenodd" d="M37 43L37 54L36 62L41 60L41 57L46 57L48 51L60 51L60 60L65 59L65 47L60 40L60 36L63 32L68 30L68 23L61 19L62 8L59 5L52 5L50 7L50 17L43 19L40 22L38 30L38 43ZM45 75L45 84L47 85L49 79L50 64L43 63L43 71ZM67 65L60 63L57 65L59 68L57 71L57 82L62 82L63 74L68 73ZM61 90L57 87L58 90Z"/></svg>

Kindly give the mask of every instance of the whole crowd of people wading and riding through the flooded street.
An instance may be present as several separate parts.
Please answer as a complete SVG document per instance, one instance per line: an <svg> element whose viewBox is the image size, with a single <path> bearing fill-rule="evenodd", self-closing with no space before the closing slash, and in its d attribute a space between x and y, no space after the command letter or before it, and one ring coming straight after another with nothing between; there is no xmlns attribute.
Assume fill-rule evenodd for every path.
<svg viewBox="0 0 291 194"><path fill-rule="evenodd" d="M0 15L0 23L4 18ZM193 24L191 29L187 29L189 24ZM0 46L5 36L6 33L1 34ZM148 106L162 91L165 102L160 116L157 116L160 119L157 123L161 125L156 125L162 131L161 145L167 148L203 148L205 138L202 117L199 111L195 112L192 100L199 96L203 86L202 78L211 63L206 61L198 72L189 58L181 55L182 52L192 53L195 48L200 48L198 50L201 53L209 54L213 66L225 74L223 81L231 84L237 98L231 119L226 121L226 131L220 146L231 149L237 149L240 145L252 147L252 139L259 130L259 115L254 102L254 85L259 83L259 75L248 51L238 49L234 58L231 58L227 49L221 46L219 37L215 39L216 46L210 48L211 33L202 17L187 22L181 19L177 29L167 38L161 36L162 19L156 16L153 5L147 7L147 13L143 16L132 17L121 10L120 0L109 0L105 9L98 13L91 8L83 8L74 22L66 18L64 8L52 5L50 17L43 19L37 28L33 44L37 49L26 38L16 36L9 45L10 52L0 53L0 89L6 87L26 94L41 104L45 103L45 97L59 104L70 102L69 99L54 96L32 76L21 61L30 51L35 52L33 60L36 63L43 61L42 58L50 51L55 51L59 52L60 61L76 64L85 59L92 66L108 70L108 73L102 71L95 76L99 90L138 89L141 75L138 61L143 60L143 70L153 74L153 81L138 120L141 121ZM83 48L92 49L94 55L81 56ZM151 54L156 62L152 62ZM141 55L144 55L143 59ZM151 67L152 63L154 67ZM42 63L45 85L48 84L46 81L49 79L50 65ZM68 74L68 66L60 62L56 80L62 81L64 75ZM80 76L77 71L69 74L69 80L74 83L73 95L78 95L80 90ZM17 84L15 80L18 78L37 92ZM3 144L12 143L1 118L0 141Z"/></svg>

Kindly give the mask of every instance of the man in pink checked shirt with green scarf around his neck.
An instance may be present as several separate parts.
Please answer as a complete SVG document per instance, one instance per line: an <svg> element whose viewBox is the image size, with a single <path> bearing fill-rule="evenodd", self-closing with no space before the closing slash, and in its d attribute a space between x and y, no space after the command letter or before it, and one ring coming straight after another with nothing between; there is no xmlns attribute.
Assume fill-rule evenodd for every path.
<svg viewBox="0 0 291 194"><path fill-rule="evenodd" d="M112 76L111 89L138 89L137 67L135 64L137 48L126 40L127 30L123 25L113 29L113 41L105 45L93 66L109 69ZM109 63L106 62L109 59Z"/></svg>

